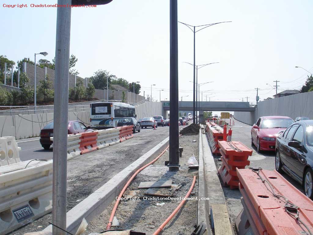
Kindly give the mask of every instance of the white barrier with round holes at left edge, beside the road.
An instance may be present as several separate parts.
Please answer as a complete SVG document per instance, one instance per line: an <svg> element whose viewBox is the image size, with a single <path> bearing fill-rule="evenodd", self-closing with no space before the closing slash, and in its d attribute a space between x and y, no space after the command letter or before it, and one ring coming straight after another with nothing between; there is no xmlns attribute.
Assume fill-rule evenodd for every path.
<svg viewBox="0 0 313 235"><path fill-rule="evenodd" d="M13 136L0 137L0 166L20 162L18 151L21 150Z"/></svg>

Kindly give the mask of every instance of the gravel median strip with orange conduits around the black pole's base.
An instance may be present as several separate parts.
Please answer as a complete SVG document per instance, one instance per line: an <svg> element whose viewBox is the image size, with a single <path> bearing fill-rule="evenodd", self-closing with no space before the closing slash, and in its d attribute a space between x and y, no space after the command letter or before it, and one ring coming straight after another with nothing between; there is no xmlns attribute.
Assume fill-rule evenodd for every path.
<svg viewBox="0 0 313 235"><path fill-rule="evenodd" d="M147 235L152 234L165 219L175 210L180 200L147 200L143 197L147 189L138 189L138 185L142 181L156 181L156 180L168 180L172 179L172 184L181 184L186 182L186 185L182 186L176 191L173 197L184 197L192 184L192 178L194 175L198 176L198 170L189 170L187 161L192 154L195 154L198 160L198 138L199 135L186 135L180 137L180 147L183 147L183 154L180 158L180 170L177 172L168 171L168 167L164 165L164 162L168 160L168 151L165 152L153 165L148 166L142 170L133 180L131 185L127 188L124 195L128 195L131 190L139 190L136 197L137 200L121 201L118 209L115 213L120 227L127 228L140 232L146 232ZM196 143L192 143L192 140L196 139ZM198 196L198 182L192 191L194 194L192 198ZM172 193L168 190L167 192ZM164 203L164 204L163 204ZM160 205L161 204L161 205ZM193 226L196 223L197 214L197 200L189 200L181 208L181 210L173 217L173 219L164 228L162 235L167 234L191 234L194 230ZM90 232L104 231L109 221L111 210L114 206L112 203L108 208L95 217L87 227L87 231L84 234ZM117 228L117 227L112 227Z"/></svg>

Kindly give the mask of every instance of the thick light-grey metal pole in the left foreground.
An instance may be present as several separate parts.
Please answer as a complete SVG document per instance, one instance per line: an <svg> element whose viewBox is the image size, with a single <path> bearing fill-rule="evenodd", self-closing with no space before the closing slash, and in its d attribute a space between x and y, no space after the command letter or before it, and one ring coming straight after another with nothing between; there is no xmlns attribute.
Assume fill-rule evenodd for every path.
<svg viewBox="0 0 313 235"><path fill-rule="evenodd" d="M71 0L58 0L58 4L70 5ZM58 8L54 77L54 92L58 95L54 97L52 223L65 230L70 28L71 8ZM66 235L55 226L52 232L53 235Z"/></svg>

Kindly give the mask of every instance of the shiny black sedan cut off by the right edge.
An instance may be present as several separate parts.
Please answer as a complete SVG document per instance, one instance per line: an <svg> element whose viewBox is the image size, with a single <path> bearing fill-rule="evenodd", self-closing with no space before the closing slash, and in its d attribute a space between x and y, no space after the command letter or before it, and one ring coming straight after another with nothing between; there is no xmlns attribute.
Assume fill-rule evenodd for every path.
<svg viewBox="0 0 313 235"><path fill-rule="evenodd" d="M313 199L313 120L293 123L276 138L275 168L302 184Z"/></svg>

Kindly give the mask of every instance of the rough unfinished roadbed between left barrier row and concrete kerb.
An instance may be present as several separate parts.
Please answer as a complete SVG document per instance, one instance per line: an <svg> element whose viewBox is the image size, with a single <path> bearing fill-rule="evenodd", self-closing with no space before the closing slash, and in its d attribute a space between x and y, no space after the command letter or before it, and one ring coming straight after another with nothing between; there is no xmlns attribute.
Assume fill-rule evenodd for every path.
<svg viewBox="0 0 313 235"><path fill-rule="evenodd" d="M169 127L136 133L120 144L81 155L67 162L67 211L104 185L114 175L168 137ZM164 165L164 162L163 162ZM52 222L51 213L11 233L41 231Z"/></svg>

